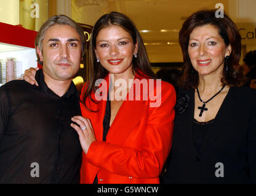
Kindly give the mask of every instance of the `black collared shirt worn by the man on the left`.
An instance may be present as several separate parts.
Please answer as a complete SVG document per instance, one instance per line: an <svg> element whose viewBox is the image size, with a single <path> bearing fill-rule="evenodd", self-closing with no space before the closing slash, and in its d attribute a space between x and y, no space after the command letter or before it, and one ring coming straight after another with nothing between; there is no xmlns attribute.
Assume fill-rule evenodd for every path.
<svg viewBox="0 0 256 196"><path fill-rule="evenodd" d="M0 88L0 183L79 183L82 151L70 126L81 115L76 86L59 97L42 70L36 81Z"/></svg>

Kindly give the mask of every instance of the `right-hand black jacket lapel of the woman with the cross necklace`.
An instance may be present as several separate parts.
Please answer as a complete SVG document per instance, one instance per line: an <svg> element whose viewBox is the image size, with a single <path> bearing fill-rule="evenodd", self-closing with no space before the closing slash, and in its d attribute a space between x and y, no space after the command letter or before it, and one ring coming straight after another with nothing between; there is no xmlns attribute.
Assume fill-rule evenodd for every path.
<svg viewBox="0 0 256 196"><path fill-rule="evenodd" d="M225 99L222 102L220 110L218 110L218 113L214 120L214 124L210 126L206 134L206 138L204 138L204 141L202 143L202 151L204 151L204 149L207 148L207 145L210 145L210 143L216 137L218 137L218 135L225 132L226 127L228 127L234 121L234 119L236 119L236 116L238 115L238 113L236 112L235 103L231 95L232 89L233 88L230 87L228 94L226 95Z"/></svg>

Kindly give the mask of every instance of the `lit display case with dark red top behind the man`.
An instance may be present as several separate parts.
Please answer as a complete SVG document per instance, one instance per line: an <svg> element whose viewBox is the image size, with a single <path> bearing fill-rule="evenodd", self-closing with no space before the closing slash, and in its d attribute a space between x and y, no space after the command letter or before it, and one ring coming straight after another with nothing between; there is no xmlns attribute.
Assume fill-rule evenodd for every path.
<svg viewBox="0 0 256 196"><path fill-rule="evenodd" d="M14 80L29 67L37 67L36 31L0 23L0 86Z"/></svg>

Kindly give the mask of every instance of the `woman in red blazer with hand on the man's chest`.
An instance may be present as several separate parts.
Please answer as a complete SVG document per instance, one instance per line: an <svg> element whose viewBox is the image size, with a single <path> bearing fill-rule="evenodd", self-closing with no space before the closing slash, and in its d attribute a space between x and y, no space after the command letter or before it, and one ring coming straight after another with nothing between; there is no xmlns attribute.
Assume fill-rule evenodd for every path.
<svg viewBox="0 0 256 196"><path fill-rule="evenodd" d="M84 151L81 183L159 183L172 144L174 87L154 79L142 37L122 13L95 23L89 56L82 116L71 124Z"/></svg>

